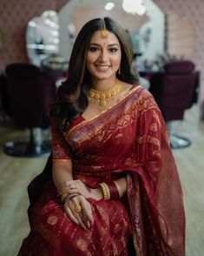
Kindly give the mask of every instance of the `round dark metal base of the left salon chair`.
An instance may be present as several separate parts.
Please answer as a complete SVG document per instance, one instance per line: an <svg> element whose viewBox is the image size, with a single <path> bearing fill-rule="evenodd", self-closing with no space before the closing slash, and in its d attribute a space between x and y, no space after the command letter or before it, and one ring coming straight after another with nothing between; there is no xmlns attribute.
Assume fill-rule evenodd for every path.
<svg viewBox="0 0 204 256"><path fill-rule="evenodd" d="M42 145L33 145L30 142L9 142L3 146L3 152L12 157L43 157L51 152L51 143L46 141Z"/></svg>

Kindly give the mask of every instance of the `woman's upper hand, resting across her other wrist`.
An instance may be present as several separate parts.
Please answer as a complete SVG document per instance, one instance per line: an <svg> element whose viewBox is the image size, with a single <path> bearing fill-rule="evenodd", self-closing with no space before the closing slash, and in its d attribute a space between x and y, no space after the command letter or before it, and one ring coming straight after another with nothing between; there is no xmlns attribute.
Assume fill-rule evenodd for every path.
<svg viewBox="0 0 204 256"><path fill-rule="evenodd" d="M90 188L88 185L85 185L80 179L66 181L60 188L59 193L78 193L79 195L82 195L85 199L102 199L102 191L99 187Z"/></svg>

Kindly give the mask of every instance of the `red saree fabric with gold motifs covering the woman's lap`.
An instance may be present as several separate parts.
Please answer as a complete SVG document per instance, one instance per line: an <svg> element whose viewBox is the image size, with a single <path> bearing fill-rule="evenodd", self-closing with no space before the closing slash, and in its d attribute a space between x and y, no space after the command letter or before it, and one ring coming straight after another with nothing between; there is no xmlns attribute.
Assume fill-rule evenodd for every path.
<svg viewBox="0 0 204 256"><path fill-rule="evenodd" d="M56 189L49 183L31 211L31 230L40 234L55 250L69 255L126 255L131 232L128 210L117 200L89 199L94 224L87 230L73 223L56 200Z"/></svg>

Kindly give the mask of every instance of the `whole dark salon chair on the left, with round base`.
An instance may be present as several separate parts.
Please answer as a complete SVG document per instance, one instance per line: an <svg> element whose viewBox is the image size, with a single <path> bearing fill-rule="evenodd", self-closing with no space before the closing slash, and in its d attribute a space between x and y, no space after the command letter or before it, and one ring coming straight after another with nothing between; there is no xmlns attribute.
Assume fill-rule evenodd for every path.
<svg viewBox="0 0 204 256"><path fill-rule="evenodd" d="M37 157L51 151L50 140L35 138L35 128L48 129L49 104L56 97L54 77L33 64L10 64L4 74L8 115L18 128L29 129L29 141L5 143L4 152L14 157Z"/></svg>

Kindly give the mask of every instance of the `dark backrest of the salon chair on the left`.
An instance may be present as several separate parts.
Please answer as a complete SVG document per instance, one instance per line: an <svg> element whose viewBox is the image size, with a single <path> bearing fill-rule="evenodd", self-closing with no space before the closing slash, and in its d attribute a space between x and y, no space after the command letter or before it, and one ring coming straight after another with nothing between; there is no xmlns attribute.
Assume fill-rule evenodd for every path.
<svg viewBox="0 0 204 256"><path fill-rule="evenodd" d="M10 64L5 70L10 116L24 128L49 125L49 104L56 95L55 79L33 64Z"/></svg>

